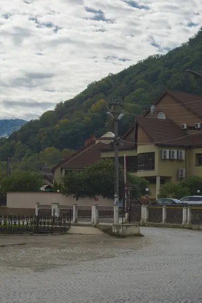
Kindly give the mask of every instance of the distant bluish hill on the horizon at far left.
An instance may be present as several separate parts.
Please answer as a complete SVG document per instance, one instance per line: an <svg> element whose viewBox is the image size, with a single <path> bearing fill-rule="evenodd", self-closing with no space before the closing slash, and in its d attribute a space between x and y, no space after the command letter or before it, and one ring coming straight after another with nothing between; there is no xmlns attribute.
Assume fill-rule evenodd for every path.
<svg viewBox="0 0 202 303"><path fill-rule="evenodd" d="M12 132L18 130L26 124L26 120L22 119L2 119L0 120L0 137L8 138Z"/></svg>

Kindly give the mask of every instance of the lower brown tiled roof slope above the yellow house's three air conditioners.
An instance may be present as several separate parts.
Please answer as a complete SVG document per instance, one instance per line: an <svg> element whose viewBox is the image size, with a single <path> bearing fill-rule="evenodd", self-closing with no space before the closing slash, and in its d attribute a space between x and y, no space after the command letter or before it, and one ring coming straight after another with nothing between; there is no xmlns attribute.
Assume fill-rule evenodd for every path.
<svg viewBox="0 0 202 303"><path fill-rule="evenodd" d="M154 143L167 145L190 145L190 137L186 130L181 129L171 120L150 117L137 117L136 121Z"/></svg>

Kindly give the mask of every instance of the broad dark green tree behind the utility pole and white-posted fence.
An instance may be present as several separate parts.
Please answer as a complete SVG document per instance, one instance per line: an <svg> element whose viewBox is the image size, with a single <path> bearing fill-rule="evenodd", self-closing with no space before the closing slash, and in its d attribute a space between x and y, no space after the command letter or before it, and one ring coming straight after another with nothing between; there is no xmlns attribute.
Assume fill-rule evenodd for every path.
<svg viewBox="0 0 202 303"><path fill-rule="evenodd" d="M100 160L81 172L67 174L63 178L63 193L73 194L79 197L103 196L104 198L114 198L114 161ZM132 183L132 195L135 198L141 197L145 193L145 188L149 187L149 182L144 178L133 176L127 173L127 180ZM124 170L119 166L119 193L123 196Z"/></svg>

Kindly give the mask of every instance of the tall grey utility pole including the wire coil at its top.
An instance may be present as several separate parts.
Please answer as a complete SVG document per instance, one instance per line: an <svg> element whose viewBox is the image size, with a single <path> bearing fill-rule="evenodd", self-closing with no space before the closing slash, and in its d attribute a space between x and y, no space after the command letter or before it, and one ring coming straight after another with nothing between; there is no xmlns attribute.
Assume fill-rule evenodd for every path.
<svg viewBox="0 0 202 303"><path fill-rule="evenodd" d="M107 112L107 115L114 120L114 159L115 159L115 180L114 180L114 204L119 204L119 121L123 117L123 113L120 113L119 108L123 106L123 102L120 98L113 98L109 105L113 106L112 112Z"/></svg>

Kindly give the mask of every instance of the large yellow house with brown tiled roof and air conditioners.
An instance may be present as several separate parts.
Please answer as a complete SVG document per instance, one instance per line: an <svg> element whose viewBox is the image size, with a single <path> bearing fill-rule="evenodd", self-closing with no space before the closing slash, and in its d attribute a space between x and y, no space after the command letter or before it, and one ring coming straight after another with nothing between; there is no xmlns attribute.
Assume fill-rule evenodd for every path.
<svg viewBox="0 0 202 303"><path fill-rule="evenodd" d="M165 91L154 105L154 115L137 117L119 147L120 163L125 155L126 168L149 180L150 198L162 184L202 176L202 96ZM101 157L114 157L111 146L102 147Z"/></svg>

